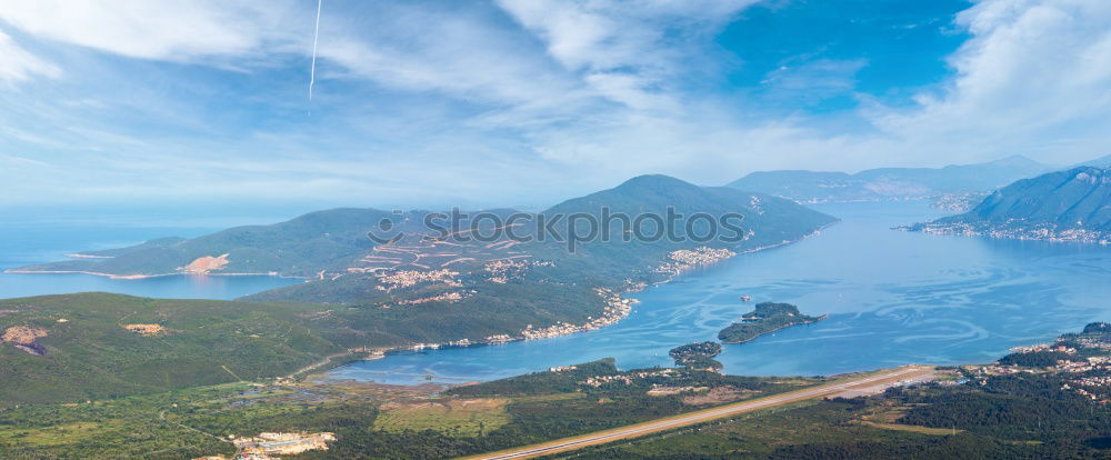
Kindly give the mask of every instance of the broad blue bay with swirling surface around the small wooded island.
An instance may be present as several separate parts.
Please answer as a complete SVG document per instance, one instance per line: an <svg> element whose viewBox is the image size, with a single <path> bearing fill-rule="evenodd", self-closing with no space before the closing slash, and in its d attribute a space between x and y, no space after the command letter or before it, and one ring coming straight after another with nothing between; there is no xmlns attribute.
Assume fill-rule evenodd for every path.
<svg viewBox="0 0 1111 460"><path fill-rule="evenodd" d="M841 218L821 236L734 258L633 294L601 330L492 347L391 353L337 369L383 383L491 380L612 357L624 369L671 366L668 350L713 340L759 301L821 322L725 346L737 374L833 374L905 363L988 362L1008 348L1111 320L1111 248L939 237L890 230L938 217L922 202L815 207ZM751 296L752 303L741 303Z"/></svg>

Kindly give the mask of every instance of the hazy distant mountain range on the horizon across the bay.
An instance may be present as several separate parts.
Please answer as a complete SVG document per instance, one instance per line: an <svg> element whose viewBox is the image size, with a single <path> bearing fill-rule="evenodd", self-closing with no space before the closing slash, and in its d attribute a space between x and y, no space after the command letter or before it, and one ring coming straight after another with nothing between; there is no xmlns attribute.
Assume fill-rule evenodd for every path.
<svg viewBox="0 0 1111 460"><path fill-rule="evenodd" d="M989 192L1019 179L1053 170L1014 156L980 164L944 168L881 168L845 172L762 171L727 187L763 192L804 203L934 198Z"/></svg>

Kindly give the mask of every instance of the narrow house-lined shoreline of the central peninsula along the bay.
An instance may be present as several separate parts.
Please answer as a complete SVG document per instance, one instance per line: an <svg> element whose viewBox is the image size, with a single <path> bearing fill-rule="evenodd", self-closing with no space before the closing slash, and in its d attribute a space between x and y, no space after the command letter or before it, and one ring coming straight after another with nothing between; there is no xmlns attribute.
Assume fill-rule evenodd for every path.
<svg viewBox="0 0 1111 460"><path fill-rule="evenodd" d="M744 251L737 252L732 257L729 257L729 258L725 258L725 259L721 259L721 260L715 261L713 263L703 264L703 266L697 266L697 267L719 266L722 262L725 262L725 261L729 261L729 260L734 260L737 258L737 256L739 256L739 254L751 254L751 253L757 253L757 252L769 250L769 249L774 249L774 248L780 248L780 247L784 247L784 246L788 246L788 244L793 244L793 243L803 241L803 240L805 240L808 238L812 238L812 237L819 236L819 234L821 234L821 232L823 230L825 230L825 229L828 229L830 227L833 227L833 226L835 226L838 223L841 223L840 219L838 219L837 221L830 222L830 223L828 223L825 226L822 226L822 227L818 228L817 230L814 230L814 231L812 231L810 233L807 233L807 234L804 234L802 237L799 237L799 238L797 238L794 240L784 240L784 241L775 243L775 244L769 244L769 246L762 246L762 247L759 247L759 248L748 249L748 250L744 250ZM650 286L661 286L661 284L664 284L664 283L671 282L675 278L679 278L680 276L688 274L690 271L692 271L697 267L691 267L689 270L683 270L683 271L680 271L680 272L677 272L677 273L672 273L667 279L664 279L662 281L653 282L651 284L648 284L648 283L637 283L637 284L633 284L632 287L629 287L624 292L621 292L620 294L615 294L615 297L624 299L623 296L629 294L629 293L633 293L633 292L643 291L644 289L647 289ZM595 288L595 289L603 289L605 291L609 291L610 293L613 292L612 290L608 290L608 289L604 289L604 288ZM639 303L640 302L639 299L634 299L634 298L630 298L628 300L630 300L630 303ZM617 324L621 320L628 318L631 312L632 312L632 308L629 307L629 309L628 310L623 310L622 313L620 314L620 317L617 318L613 322L607 323L607 324L601 326L601 327ZM488 340L486 340L486 341L473 341L473 342L470 341L470 340L468 340L468 339L460 339L460 340L453 340L453 341L448 341L448 342L443 342L443 343L414 343L414 344L411 344L411 346L379 347L379 348L373 348L373 349L368 347L368 348L364 348L364 349L366 350L373 350L373 351L371 351L369 353L370 356L372 356L372 358L353 360L353 361L348 362L346 364L341 364L341 366L338 366L338 367L334 367L334 368L330 368L328 370L323 370L323 371L321 371L321 373L328 373L328 372L331 372L332 370L339 369L339 368L341 368L343 366L349 366L349 364L354 363L354 362L372 361L372 360L383 359L383 358L387 358L390 354L396 354L396 353L399 353L399 352L421 351L421 350L439 350L439 349L447 349L447 348L491 347L491 346L500 346L500 344L506 344L506 343L511 343L511 342L520 342L520 341L526 341L526 340L554 339L554 338L558 338L558 337L564 337L564 336L571 336L571 334L575 334L575 333L590 332L592 330L600 329L599 327L587 328L585 326L589 326L589 324L590 323L584 324L583 327L581 327L582 329L580 329L580 330L570 331L570 332L565 332L565 333L559 333L559 334L550 336L550 337L548 337L548 336L546 336L546 337L526 337L526 336L511 337L511 336L503 334L503 336L490 336L490 337L487 338ZM559 324L554 324L552 327L557 327L557 326L559 326ZM794 324L794 326L799 326L799 324ZM489 340L489 339L494 339L494 340Z"/></svg>

